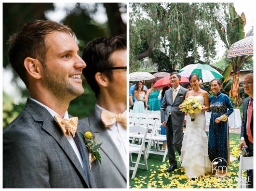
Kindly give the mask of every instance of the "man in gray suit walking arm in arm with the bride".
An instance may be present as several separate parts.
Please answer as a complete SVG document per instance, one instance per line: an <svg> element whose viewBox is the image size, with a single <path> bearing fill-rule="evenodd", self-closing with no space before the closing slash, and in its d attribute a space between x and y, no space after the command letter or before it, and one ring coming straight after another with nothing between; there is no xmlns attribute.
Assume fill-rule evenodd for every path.
<svg viewBox="0 0 256 191"><path fill-rule="evenodd" d="M185 113L180 112L179 105L185 100L188 89L179 85L181 76L177 72L170 75L170 82L173 88L166 90L161 104L161 122L166 127L166 139L169 156L168 172L177 168L175 159L175 149L180 155L182 146L182 135L184 127Z"/></svg>

